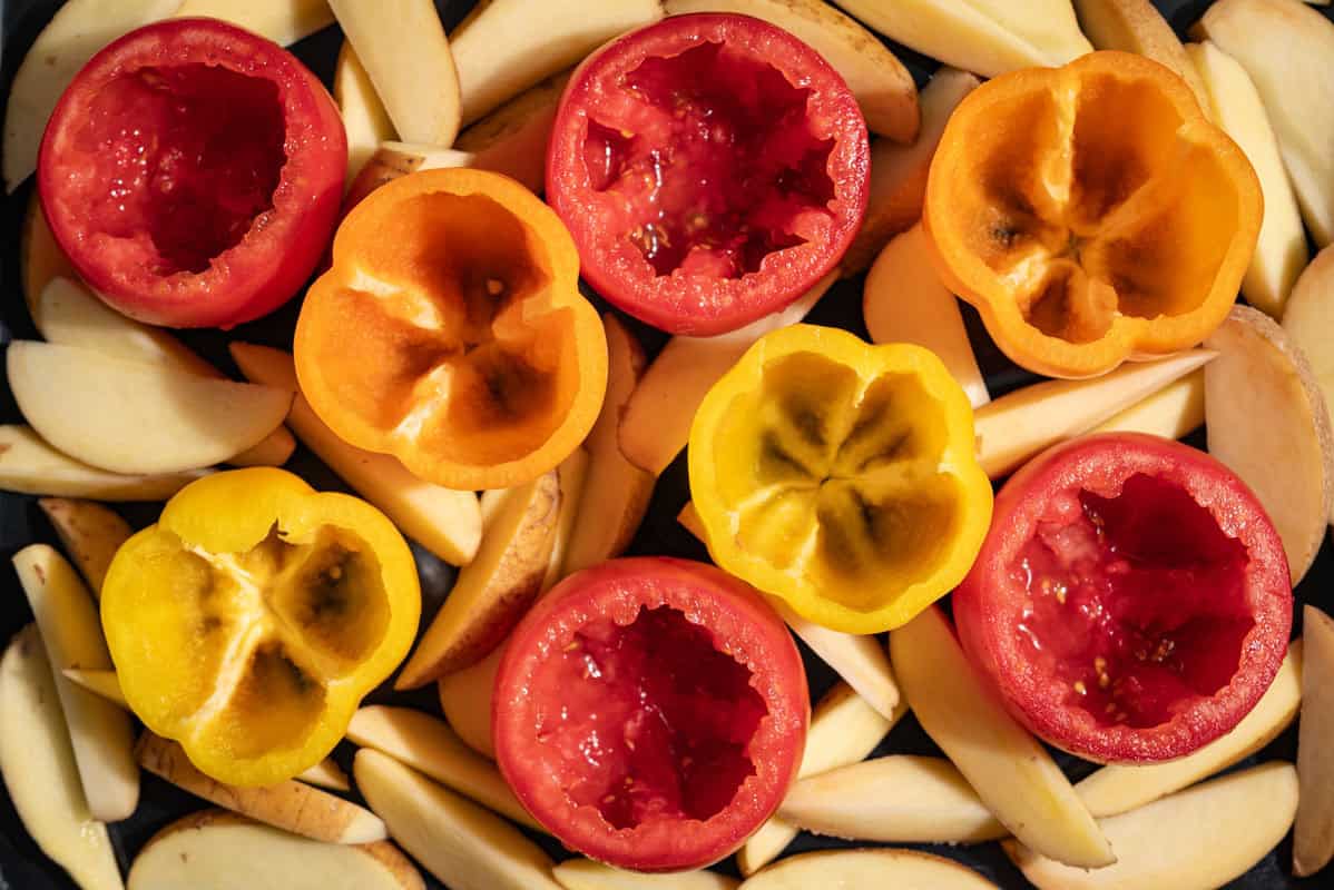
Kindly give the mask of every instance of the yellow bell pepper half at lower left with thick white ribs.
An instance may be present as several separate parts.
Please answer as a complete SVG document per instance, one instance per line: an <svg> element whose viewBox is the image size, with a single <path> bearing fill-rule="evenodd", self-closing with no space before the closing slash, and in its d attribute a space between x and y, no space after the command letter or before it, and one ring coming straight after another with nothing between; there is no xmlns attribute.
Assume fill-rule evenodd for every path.
<svg viewBox="0 0 1334 890"><path fill-rule="evenodd" d="M320 762L407 656L420 610L412 553L383 513L271 468L187 485L101 590L125 701L231 785Z"/></svg>

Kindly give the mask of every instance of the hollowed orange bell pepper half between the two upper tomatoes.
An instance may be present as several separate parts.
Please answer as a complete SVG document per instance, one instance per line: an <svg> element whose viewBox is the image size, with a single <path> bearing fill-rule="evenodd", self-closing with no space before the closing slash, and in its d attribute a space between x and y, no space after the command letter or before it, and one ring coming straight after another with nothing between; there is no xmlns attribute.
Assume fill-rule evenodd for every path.
<svg viewBox="0 0 1334 890"><path fill-rule="evenodd" d="M455 489L554 468L607 385L570 233L524 187L472 169L404 176L347 215L293 352L335 433Z"/></svg>

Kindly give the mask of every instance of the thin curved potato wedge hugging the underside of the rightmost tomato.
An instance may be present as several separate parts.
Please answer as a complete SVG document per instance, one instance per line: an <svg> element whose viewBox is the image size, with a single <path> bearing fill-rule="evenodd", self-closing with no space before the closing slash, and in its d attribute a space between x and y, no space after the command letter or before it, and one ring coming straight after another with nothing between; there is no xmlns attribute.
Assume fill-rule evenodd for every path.
<svg viewBox="0 0 1334 890"><path fill-rule="evenodd" d="M1190 787L1273 742L1297 718L1302 702L1302 641L1294 641L1278 675L1246 717L1222 738L1165 763L1103 766L1075 785L1095 818L1127 813Z"/></svg>

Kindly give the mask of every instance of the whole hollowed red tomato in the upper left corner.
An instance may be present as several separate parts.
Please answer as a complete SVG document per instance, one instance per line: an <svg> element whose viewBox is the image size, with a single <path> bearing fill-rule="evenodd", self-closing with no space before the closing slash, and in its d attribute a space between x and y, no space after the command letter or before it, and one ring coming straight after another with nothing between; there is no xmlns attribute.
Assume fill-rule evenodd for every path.
<svg viewBox="0 0 1334 890"><path fill-rule="evenodd" d="M212 72L231 72L237 81L273 85L272 112L280 115L281 132L276 139L281 160L276 183L271 193L264 195L267 207L256 208L259 212L253 216L245 209L235 211L245 224L237 233L239 240L208 257L207 265L200 264L204 268L181 269L164 258L156 233L117 220L113 211L107 209L105 197L137 203L136 211L151 219L163 212L161 195L168 187L161 183L172 180L169 165L187 156L184 167L189 167L192 151L203 156L212 148L217 157L208 163L215 169L179 173L175 187L188 191L200 179L211 177L212 181L201 188L208 191L209 199L217 200L217 205L196 213L199 219L193 221L225 216L228 203L239 200L236 192L244 188L244 184L232 184L248 181L247 175L252 171L228 168L227 161L219 159L236 156L236 148L247 139L248 125L256 120L245 115L252 111L260 115L260 109L241 108L235 112L235 121L229 121L236 127L215 127L213 136L224 140L221 145L209 145L207 140L201 145L196 140L195 145L180 151L172 145L145 164L148 169L127 167L124 155L127 149L143 152L143 147L148 147L147 155L157 152L153 140L161 131L155 128L165 125L161 107L133 105L129 100L125 107L112 109L113 113L95 112L99 111L99 93L108 85L132 81L147 76L145 72L179 72L181 80L173 89L189 92L197 88L192 72L204 68L211 72L209 79L217 76ZM149 95L151 91L148 88ZM220 107L227 108L225 100L219 104L217 96L199 92L195 97L199 96L215 104L196 112L196 123ZM141 117L135 117L136 109ZM107 119L119 124L108 124ZM112 132L108 128L117 125L120 132L112 136L117 141L89 151L89 139L105 141ZM188 131L191 123L177 125ZM92 128L101 129L93 132ZM140 131L147 136L140 137ZM236 132L236 139L229 139L231 131ZM131 139L139 140L137 144L129 143ZM188 132L185 139L189 139ZM231 328L272 312L309 277L336 222L346 165L347 136L338 107L319 79L295 56L224 21L171 19L108 44L79 72L47 125L37 160L37 189L56 241L79 274L111 306L149 324ZM273 173L260 169L253 177L267 185L267 177ZM136 176L139 179L133 179ZM209 189L211 185L215 188ZM120 209L124 212L124 204ZM92 221L93 213L101 215L97 222ZM108 225L131 230L108 232ZM171 234L177 240L188 241L195 234L189 230L192 226L181 225L179 219L159 225L176 229Z"/></svg>

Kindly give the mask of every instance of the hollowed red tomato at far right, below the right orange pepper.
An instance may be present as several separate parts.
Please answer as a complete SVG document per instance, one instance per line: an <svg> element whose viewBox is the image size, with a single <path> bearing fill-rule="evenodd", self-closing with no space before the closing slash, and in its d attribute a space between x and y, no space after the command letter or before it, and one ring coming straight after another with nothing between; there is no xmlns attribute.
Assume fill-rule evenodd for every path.
<svg viewBox="0 0 1334 890"><path fill-rule="evenodd" d="M1089 759L1151 762L1255 706L1287 652L1293 592L1278 533L1231 470L1107 433L1006 482L954 618L1034 733Z"/></svg>

